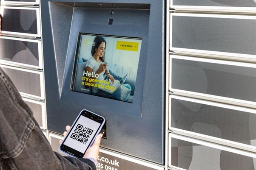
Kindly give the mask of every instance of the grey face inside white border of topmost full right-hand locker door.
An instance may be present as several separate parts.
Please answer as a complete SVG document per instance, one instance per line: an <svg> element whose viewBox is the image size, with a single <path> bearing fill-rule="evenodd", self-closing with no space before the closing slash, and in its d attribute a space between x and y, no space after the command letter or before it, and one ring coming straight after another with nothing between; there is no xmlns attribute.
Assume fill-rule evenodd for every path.
<svg viewBox="0 0 256 170"><path fill-rule="evenodd" d="M172 47L256 54L256 20L189 16L172 19Z"/></svg>

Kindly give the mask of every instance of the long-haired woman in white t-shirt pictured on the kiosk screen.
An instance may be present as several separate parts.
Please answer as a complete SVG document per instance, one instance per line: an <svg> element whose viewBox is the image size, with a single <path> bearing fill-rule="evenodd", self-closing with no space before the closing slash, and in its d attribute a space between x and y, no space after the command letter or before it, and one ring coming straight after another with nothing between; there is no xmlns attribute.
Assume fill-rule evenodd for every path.
<svg viewBox="0 0 256 170"><path fill-rule="evenodd" d="M103 36L96 36L94 38L91 47L92 57L88 59L85 65L85 85L87 84L87 88L91 87L93 95L117 100L126 100L131 93L131 86L128 84L122 85L113 94L102 91L108 84L114 83L114 77L108 71L108 64L105 62L106 45L107 42ZM104 74L107 75L106 80L104 80ZM106 82L108 82L108 84L106 84Z"/></svg>

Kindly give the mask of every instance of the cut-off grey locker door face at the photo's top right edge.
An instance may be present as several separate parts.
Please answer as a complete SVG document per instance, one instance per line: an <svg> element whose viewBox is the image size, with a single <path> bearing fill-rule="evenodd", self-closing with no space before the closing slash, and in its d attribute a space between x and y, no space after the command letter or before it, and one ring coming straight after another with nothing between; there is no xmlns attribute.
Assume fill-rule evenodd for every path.
<svg viewBox="0 0 256 170"><path fill-rule="evenodd" d="M256 7L255 0L173 0L176 6Z"/></svg>

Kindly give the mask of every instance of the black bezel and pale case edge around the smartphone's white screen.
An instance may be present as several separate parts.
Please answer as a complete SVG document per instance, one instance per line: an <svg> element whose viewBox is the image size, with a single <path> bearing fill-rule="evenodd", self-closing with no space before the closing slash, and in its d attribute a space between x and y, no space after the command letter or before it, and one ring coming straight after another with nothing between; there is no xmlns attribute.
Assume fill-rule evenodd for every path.
<svg viewBox="0 0 256 170"><path fill-rule="evenodd" d="M92 113L91 111L88 110L82 110L81 113L78 115L77 119L74 121L72 127L70 128L70 130L68 131L68 134L66 135L66 137L64 138L63 142L60 145L60 150L63 151L64 153L74 156L76 158L82 158L85 155L85 152L88 148L86 148L85 152L79 152L78 150L75 150L67 145L64 145L66 139L69 137L70 132L72 131L72 129L74 128L74 125L77 123L77 121L80 119L80 117L86 117L88 119L94 120L97 123L100 123L99 128L97 129L97 132L94 134L94 137L91 138L91 141L88 145L88 148L91 146L92 142L94 142L95 137L97 136L98 132L100 131L102 124L104 123L104 118ZM97 119L98 117L98 119ZM64 148L63 148L64 147Z"/></svg>

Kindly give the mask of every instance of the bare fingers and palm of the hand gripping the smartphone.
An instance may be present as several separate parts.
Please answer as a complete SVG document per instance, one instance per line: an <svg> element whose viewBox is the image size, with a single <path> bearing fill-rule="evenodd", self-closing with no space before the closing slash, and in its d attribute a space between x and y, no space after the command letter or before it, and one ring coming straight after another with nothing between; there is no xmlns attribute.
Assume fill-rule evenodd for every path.
<svg viewBox="0 0 256 170"><path fill-rule="evenodd" d="M66 130L63 133L63 136L65 137L68 134L68 131L70 130L71 126L67 125ZM103 134L98 134L97 137L94 140L94 143L86 150L85 156L83 158L92 158L95 161L97 161L98 155L99 155L99 150L100 150L100 140L102 138ZM63 140L60 140L60 144L62 143Z"/></svg>

